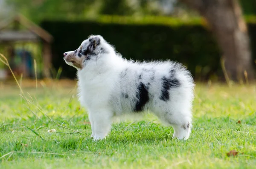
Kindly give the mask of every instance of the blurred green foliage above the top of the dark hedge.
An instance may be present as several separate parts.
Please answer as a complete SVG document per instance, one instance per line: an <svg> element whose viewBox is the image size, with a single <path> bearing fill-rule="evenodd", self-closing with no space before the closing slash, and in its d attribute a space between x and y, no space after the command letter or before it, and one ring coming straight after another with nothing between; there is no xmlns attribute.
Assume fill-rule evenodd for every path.
<svg viewBox="0 0 256 169"><path fill-rule="evenodd" d="M164 4L168 0L5 0L13 11L21 12L35 22L44 18L95 17L102 14L122 16L146 15L189 15L195 16L192 9L179 0L170 0L172 11L165 13ZM255 0L240 0L246 15L256 14ZM178 14L179 13L179 14Z"/></svg>

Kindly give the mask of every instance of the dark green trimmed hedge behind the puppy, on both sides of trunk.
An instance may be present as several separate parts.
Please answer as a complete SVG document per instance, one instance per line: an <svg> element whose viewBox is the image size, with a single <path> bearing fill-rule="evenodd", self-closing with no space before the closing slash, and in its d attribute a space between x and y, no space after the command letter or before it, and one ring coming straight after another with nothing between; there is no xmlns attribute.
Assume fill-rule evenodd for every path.
<svg viewBox="0 0 256 169"><path fill-rule="evenodd" d="M248 28L253 58L256 59L254 18L249 17ZM215 37L204 26L204 20L195 19L194 23L175 19L166 23L165 20L105 16L94 21L45 20L41 26L55 39L52 44L52 63L55 69L63 68L62 77L76 76L76 70L64 63L63 53L77 49L90 34L101 34L125 58L171 59L185 64L197 80L222 78L221 52Z"/></svg>

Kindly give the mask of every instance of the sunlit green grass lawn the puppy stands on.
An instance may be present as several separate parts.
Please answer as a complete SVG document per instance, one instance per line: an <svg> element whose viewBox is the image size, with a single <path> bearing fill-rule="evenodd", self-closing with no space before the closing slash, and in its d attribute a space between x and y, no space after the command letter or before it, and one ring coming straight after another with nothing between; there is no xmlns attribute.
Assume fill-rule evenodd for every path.
<svg viewBox="0 0 256 169"><path fill-rule="evenodd" d="M17 87L0 86L0 157L9 153L0 158L0 169L256 168L256 85L197 84L187 141L172 139L171 127L146 115L135 123L114 123L106 140L94 142L87 114L72 89L24 88L30 104ZM36 106L82 134L57 126ZM228 157L230 150L239 153Z"/></svg>

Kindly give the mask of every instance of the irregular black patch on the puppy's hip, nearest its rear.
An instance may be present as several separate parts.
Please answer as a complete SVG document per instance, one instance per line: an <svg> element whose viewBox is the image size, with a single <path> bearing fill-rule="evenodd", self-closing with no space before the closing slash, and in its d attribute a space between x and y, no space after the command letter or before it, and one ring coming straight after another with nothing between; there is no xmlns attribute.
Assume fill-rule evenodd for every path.
<svg viewBox="0 0 256 169"><path fill-rule="evenodd" d="M160 100L168 101L170 99L169 89L179 87L180 82L177 78L171 76L170 78L162 77L162 90Z"/></svg>

